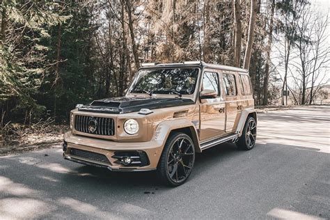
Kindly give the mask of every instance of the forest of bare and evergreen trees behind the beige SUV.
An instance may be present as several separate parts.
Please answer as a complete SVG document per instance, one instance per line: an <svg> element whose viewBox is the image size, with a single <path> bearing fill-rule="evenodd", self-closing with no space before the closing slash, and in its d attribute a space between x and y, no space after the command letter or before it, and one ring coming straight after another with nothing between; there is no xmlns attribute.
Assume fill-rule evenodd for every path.
<svg viewBox="0 0 330 220"><path fill-rule="evenodd" d="M256 105L329 102L327 1L0 5L0 136L15 131L14 125L68 124L75 104L123 95L148 62L202 60L246 68Z"/></svg>

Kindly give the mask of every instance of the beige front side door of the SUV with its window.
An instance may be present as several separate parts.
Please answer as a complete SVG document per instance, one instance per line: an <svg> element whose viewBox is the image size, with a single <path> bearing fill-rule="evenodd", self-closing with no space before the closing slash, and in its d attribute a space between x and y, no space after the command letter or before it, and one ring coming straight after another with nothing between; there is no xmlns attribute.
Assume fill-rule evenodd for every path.
<svg viewBox="0 0 330 220"><path fill-rule="evenodd" d="M217 92L217 97L201 99L200 116L200 140L206 141L223 135L226 125L226 102L223 100L219 88L219 72L205 70L201 90L212 90Z"/></svg>

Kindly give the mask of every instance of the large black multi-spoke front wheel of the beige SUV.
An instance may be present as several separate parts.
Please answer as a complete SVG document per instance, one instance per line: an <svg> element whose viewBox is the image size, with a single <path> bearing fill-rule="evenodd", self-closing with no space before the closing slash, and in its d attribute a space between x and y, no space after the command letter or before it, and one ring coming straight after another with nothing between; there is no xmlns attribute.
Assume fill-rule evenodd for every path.
<svg viewBox="0 0 330 220"><path fill-rule="evenodd" d="M157 174L164 184L177 187L189 178L194 162L194 141L187 134L175 133L166 141Z"/></svg>

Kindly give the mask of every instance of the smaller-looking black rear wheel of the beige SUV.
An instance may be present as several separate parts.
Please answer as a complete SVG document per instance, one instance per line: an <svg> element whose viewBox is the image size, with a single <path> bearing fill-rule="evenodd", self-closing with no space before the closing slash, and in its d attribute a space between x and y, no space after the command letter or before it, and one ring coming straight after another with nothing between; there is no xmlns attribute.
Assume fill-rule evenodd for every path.
<svg viewBox="0 0 330 220"><path fill-rule="evenodd" d="M247 118L242 136L239 137L236 145L241 150L251 150L256 145L257 123L252 117Z"/></svg>

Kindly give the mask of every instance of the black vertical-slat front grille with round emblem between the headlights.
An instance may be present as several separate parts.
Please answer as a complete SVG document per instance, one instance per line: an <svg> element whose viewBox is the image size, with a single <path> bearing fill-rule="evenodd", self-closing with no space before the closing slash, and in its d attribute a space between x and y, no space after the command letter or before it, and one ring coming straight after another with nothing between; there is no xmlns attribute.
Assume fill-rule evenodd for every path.
<svg viewBox="0 0 330 220"><path fill-rule="evenodd" d="M74 129L78 132L113 136L115 134L113 118L100 118L93 116L75 116Z"/></svg>

